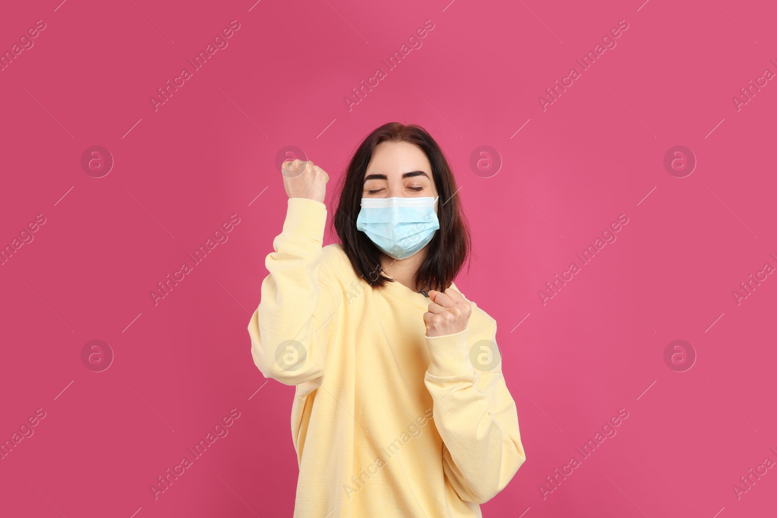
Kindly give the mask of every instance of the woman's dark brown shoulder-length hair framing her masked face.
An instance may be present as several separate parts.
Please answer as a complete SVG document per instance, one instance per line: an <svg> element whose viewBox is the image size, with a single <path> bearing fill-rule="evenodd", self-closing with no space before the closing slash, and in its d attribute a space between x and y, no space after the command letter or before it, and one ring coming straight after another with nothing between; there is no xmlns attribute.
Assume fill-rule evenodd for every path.
<svg viewBox="0 0 777 518"><path fill-rule="evenodd" d="M469 259L471 238L469 225L462 213L458 188L444 153L434 138L416 124L385 123L369 134L354 152L347 172L340 178L335 190L340 200L332 218L332 224L342 242L343 251L351 265L371 287L382 288L392 279L385 276L381 266L383 252L363 231L356 228L364 193L364 175L375 147L382 142L409 142L415 144L429 159L432 178L439 196L437 219L440 228L427 245L427 257L413 278L418 290L448 288Z"/></svg>

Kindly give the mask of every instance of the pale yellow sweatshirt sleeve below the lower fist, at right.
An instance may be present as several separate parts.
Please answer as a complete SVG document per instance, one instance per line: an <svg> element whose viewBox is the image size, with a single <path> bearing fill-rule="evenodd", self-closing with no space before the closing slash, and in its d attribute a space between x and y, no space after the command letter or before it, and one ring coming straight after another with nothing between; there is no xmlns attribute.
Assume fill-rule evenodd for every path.
<svg viewBox="0 0 777 518"><path fill-rule="evenodd" d="M445 475L463 500L474 503L497 495L526 460L515 402L501 372L497 322L483 315L487 318L478 322L470 318L462 332L427 336L430 365L424 377L443 440ZM473 367L473 347L473 361L496 357L497 365Z"/></svg>

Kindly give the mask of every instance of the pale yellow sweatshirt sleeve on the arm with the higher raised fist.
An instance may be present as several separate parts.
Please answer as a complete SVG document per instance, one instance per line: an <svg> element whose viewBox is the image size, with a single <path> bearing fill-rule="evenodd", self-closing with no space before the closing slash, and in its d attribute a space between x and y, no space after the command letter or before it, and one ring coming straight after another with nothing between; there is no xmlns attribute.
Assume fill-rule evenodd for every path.
<svg viewBox="0 0 777 518"><path fill-rule="evenodd" d="M323 235L326 205L289 198L283 231L265 260L259 308L248 325L251 354L265 377L298 385L308 394L318 388L326 363L326 337L336 313L327 282Z"/></svg>

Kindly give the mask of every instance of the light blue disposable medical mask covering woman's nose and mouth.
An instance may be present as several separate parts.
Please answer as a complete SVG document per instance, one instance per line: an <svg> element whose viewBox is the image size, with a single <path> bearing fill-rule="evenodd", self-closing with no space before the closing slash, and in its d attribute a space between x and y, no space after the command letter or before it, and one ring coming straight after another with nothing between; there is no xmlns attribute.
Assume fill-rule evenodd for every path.
<svg viewBox="0 0 777 518"><path fill-rule="evenodd" d="M433 196L362 198L357 230L387 256L407 259L423 249L440 228Z"/></svg>

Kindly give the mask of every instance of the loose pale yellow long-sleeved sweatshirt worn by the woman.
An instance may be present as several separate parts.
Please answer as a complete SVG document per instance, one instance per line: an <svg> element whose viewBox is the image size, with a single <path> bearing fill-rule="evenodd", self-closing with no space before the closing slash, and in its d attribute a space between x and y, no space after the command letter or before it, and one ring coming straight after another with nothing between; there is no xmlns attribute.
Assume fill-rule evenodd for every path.
<svg viewBox="0 0 777 518"><path fill-rule="evenodd" d="M470 301L467 329L427 337L430 299L371 288L323 246L326 212L288 200L248 326L256 367L296 385L294 518L482 516L526 460L501 362L470 360L497 322Z"/></svg>

